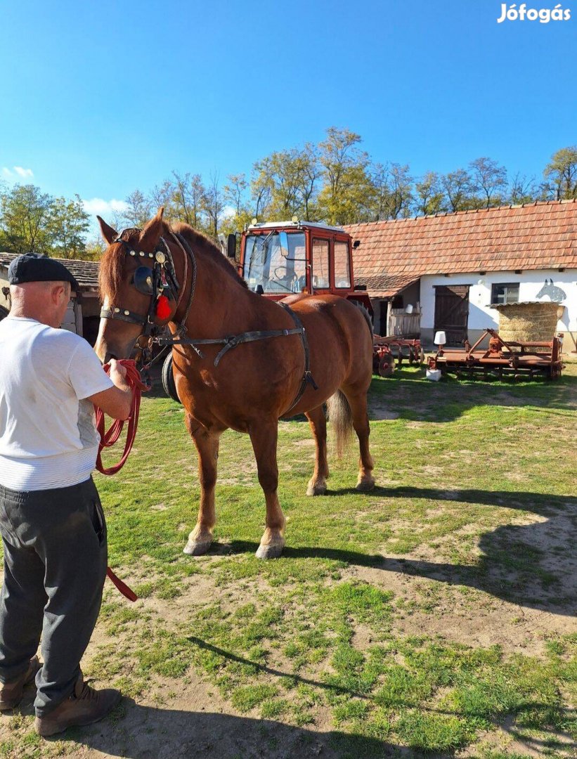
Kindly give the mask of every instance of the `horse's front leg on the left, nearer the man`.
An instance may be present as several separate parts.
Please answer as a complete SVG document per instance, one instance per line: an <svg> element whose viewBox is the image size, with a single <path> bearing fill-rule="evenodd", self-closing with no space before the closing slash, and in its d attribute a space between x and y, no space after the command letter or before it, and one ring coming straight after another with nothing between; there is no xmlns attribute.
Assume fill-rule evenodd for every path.
<svg viewBox="0 0 577 759"><path fill-rule="evenodd" d="M184 553L202 556L213 542L213 528L216 524L214 489L216 486L216 462L219 458L220 433L211 433L205 427L191 428L189 431L198 451L198 476L200 479L200 509L196 527L188 536Z"/></svg>

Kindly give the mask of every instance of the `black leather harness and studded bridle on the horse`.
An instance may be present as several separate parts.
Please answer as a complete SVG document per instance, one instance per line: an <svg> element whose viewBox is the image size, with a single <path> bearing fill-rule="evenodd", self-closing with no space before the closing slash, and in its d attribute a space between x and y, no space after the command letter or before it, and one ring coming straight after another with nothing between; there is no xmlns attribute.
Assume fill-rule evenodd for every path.
<svg viewBox="0 0 577 759"><path fill-rule="evenodd" d="M295 327L293 329L258 329L251 332L241 332L240 335L227 335L224 338L214 339L190 338L188 337L187 333L186 321L191 310L192 301L194 300L194 291L197 281L197 262L196 258L194 257L192 248L186 239L178 232L170 232L172 238L174 238L175 242L178 244L178 247L180 247L182 250L182 254L184 256L184 282L179 293L180 286L178 284L178 279L176 278L174 261L172 260L172 254L169 245L166 243L166 240L162 237L159 238L159 243L162 245L162 248L157 248L153 253L146 254L143 253L143 251L140 251L140 253L137 254L137 251L133 250L128 241L125 239L125 235L127 235L128 232L132 231L139 230L125 229L121 232L120 235L118 235L118 238L115 239L115 242L125 245L125 247L128 249L127 254L132 257L138 256L143 259L148 258L153 260L152 269L148 269L148 267L141 267L142 269L147 269L147 272L150 272L150 274L147 274L147 272L143 271L141 272L140 267L136 270L136 272L134 272L134 286L139 292L143 294L150 294L150 304L147 316L143 317L139 313L134 313L134 311L131 311L127 308L112 306L109 308L102 308L100 311L100 317L102 319L118 319L120 321L143 326L144 330L138 336L136 342L136 347L141 351L141 357L147 353L150 354L153 343L156 343L156 345L164 346L190 345L199 358L203 358L204 354L197 346L222 345L222 348L218 354L216 354L216 357L214 359L214 366L218 367L222 357L232 348L236 348L237 345L254 342L256 340L266 340L274 337L282 337L285 335L300 335L301 344L304 351L304 375L301 381L301 386L298 389L294 401L289 406L289 408L283 414L281 414L281 416L287 416L287 414L289 414L289 411L292 411L292 409L295 408L295 406L304 395L304 391L307 389L307 385L311 385L314 390L318 390L317 383L314 381L314 378L311 374L311 354L308 347L307 332L306 329L304 329L301 320L291 307L285 303L278 304L292 317L292 320L295 323ZM178 323L174 335L171 335L170 337L162 337L162 335L156 335L156 329L158 329L154 321L156 313L156 302L163 294L166 294L166 292L168 292L169 296L166 297L170 297L172 300L176 301L176 307L178 309L178 306L184 297L184 291L186 290L189 260L191 262L191 291L188 295L188 301L184 310L184 315ZM143 338L145 339L144 343L142 342ZM147 368L148 366L150 366L150 361L143 368Z"/></svg>

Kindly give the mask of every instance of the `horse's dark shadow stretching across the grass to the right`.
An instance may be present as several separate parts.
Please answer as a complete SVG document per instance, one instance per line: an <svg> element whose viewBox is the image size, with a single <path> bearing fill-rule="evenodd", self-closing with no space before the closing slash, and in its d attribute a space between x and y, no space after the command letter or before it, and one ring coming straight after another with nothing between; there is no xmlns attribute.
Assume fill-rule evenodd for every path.
<svg viewBox="0 0 577 759"><path fill-rule="evenodd" d="M356 493L342 490L327 493ZM577 498L540 493L486 490L450 491L414 487L375 488L371 494L390 498L435 499L522 509L544 517L531 524L506 524L484 533L475 565L404 559L327 546L286 546L286 559L331 559L351 565L399 572L452 585L465 585L503 600L570 616L577 611ZM216 547L216 546L215 546ZM232 541L226 550L253 553L258 544ZM216 549L218 550L218 549Z"/></svg>

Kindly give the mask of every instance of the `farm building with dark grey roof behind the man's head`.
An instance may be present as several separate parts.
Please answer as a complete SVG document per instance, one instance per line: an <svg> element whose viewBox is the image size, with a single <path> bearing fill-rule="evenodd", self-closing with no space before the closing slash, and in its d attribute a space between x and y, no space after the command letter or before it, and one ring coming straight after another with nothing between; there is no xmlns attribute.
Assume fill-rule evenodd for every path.
<svg viewBox="0 0 577 759"><path fill-rule="evenodd" d="M0 318L5 317L10 308L8 300L8 266L16 256L0 253ZM100 301L98 297L98 269L96 261L78 261L59 258L73 274L80 285L80 292L72 292L65 320L62 326L82 335L94 345L98 335Z"/></svg>

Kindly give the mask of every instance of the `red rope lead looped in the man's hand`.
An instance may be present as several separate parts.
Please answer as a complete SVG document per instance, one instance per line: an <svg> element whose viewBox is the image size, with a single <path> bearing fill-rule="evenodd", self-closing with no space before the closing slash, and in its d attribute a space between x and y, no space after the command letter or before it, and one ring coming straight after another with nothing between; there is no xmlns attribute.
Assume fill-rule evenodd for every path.
<svg viewBox="0 0 577 759"><path fill-rule="evenodd" d="M122 454L122 458L120 461L118 461L118 464L112 465L112 467L105 467L102 464L102 449L112 448L115 442L118 442L118 438L120 437L122 429L125 426L125 421L121 419L115 419L112 422L112 426L109 427L109 430L105 431L104 411L102 411L102 408L98 408L97 406L94 407L94 411L96 411L96 429L98 430L100 436L100 445L98 447L98 455L96 457L96 469L101 474L116 474L116 472L120 471L121 468L125 465L128 454L131 452L132 446L134 445L134 438L136 437L136 431L138 429L140 396L143 392L150 390L150 387L143 383L142 379L140 378L140 372L137 370L135 361L132 361L131 359L122 359L121 361L118 361L118 364L126 367L126 382L132 389L131 413L127 420L128 430L126 435L125 451ZM103 368L108 374L110 371L110 364L105 364ZM135 594L134 591L131 591L131 588L128 587L126 583L122 582L121 579L118 578L114 572L112 572L112 569L110 567L106 568L106 575L110 578L112 583L115 584L123 596L131 601L137 600L137 594Z"/></svg>

